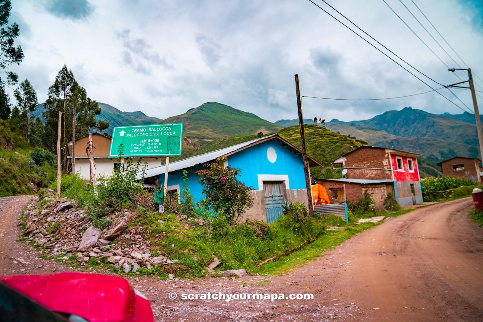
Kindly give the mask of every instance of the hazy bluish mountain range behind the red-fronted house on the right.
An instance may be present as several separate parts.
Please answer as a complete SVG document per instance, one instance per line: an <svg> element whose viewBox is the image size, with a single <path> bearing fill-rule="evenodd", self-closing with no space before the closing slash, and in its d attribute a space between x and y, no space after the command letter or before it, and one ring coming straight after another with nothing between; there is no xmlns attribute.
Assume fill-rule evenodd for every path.
<svg viewBox="0 0 483 322"><path fill-rule="evenodd" d="M313 120L305 120L313 124ZM298 120L276 123L296 125ZM420 153L421 175L438 176L441 172L436 164L442 160L456 155L479 157L475 123L474 116L468 112L437 115L406 107L400 111L384 112L368 120L342 122L333 119L325 126L374 146Z"/></svg>

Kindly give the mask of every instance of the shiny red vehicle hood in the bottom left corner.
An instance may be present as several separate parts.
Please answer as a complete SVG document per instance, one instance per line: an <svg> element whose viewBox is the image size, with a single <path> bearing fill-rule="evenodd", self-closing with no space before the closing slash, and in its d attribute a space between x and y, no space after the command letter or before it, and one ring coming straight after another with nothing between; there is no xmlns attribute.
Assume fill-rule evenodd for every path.
<svg viewBox="0 0 483 322"><path fill-rule="evenodd" d="M149 301L120 277L59 273L7 275L0 281L52 311L90 322L154 322Z"/></svg>

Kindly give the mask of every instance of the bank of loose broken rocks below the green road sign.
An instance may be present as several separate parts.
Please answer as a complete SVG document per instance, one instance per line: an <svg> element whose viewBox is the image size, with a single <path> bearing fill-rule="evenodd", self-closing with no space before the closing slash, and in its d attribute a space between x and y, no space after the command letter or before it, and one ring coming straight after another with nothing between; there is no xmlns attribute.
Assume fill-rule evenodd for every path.
<svg viewBox="0 0 483 322"><path fill-rule="evenodd" d="M75 199L56 201L47 196L37 197L22 218L27 240L55 258L68 260L76 256L81 266L86 266L91 258L99 261L105 258L105 263L125 273L135 273L141 267L149 270L159 265L177 266L176 259L170 260L161 252L153 254L150 241L128 228L130 215L128 210L112 211L107 218L109 227L101 230L93 225L87 209L79 208ZM176 267L172 268L176 271Z"/></svg>

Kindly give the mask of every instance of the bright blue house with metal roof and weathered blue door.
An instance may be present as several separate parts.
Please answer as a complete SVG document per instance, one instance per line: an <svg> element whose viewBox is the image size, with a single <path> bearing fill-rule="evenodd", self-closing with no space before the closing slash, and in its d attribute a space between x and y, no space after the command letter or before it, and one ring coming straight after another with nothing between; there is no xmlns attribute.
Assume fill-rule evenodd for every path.
<svg viewBox="0 0 483 322"><path fill-rule="evenodd" d="M195 171L220 157L227 158L225 165L240 168L241 182L253 187L254 204L242 216L242 221L253 218L271 223L281 216L284 201L301 201L307 205L302 152L277 134L170 163L168 191L176 191L180 196L183 170L186 170L191 194L196 200L204 198ZM321 166L311 157L308 160L310 166ZM165 168L148 169L146 181L157 178L158 182L164 182Z"/></svg>

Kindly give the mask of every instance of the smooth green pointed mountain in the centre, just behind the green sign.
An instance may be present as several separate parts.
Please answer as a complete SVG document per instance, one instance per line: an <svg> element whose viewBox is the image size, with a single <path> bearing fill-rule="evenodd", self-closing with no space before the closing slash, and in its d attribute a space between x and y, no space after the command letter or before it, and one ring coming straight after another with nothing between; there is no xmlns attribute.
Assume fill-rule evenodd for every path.
<svg viewBox="0 0 483 322"><path fill-rule="evenodd" d="M259 132L265 134L283 128L255 114L217 102L204 103L181 115L169 117L162 123L177 122L184 123L184 137L205 140L223 139L226 136L246 136Z"/></svg>

